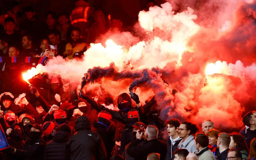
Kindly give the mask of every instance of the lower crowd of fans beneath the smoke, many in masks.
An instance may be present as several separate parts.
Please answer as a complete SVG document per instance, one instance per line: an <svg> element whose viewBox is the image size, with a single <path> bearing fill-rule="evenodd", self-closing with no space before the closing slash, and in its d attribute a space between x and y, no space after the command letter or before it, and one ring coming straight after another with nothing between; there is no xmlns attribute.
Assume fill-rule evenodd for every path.
<svg viewBox="0 0 256 160"><path fill-rule="evenodd" d="M41 86L28 85L29 93L0 95L1 131L9 143L2 159L256 159L256 111L243 117L239 133L225 133L210 119L202 129L162 121L155 97L141 105L137 94L122 93L112 110L111 97L79 95L81 85L70 91L60 78L49 80L37 76L32 83Z"/></svg>

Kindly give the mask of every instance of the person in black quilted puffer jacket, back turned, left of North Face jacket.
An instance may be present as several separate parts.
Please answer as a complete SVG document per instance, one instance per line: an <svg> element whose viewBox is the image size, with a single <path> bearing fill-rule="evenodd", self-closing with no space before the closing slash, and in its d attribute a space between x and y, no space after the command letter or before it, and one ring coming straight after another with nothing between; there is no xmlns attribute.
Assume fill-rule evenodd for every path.
<svg viewBox="0 0 256 160"><path fill-rule="evenodd" d="M46 144L44 159L48 160L66 160L69 159L66 144L71 136L71 129L67 124L59 125L53 140Z"/></svg>

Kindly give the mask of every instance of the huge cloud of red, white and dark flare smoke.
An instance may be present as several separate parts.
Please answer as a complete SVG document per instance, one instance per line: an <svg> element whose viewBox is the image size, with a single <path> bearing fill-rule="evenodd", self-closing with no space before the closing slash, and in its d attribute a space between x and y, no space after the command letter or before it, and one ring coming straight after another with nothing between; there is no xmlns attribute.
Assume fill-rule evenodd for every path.
<svg viewBox="0 0 256 160"><path fill-rule="evenodd" d="M168 0L140 11L133 31L91 43L83 61L54 57L30 75L60 76L73 88L84 77L85 88L114 106L124 92L142 105L155 95L162 120L211 119L235 129L256 106L255 30L255 1Z"/></svg>

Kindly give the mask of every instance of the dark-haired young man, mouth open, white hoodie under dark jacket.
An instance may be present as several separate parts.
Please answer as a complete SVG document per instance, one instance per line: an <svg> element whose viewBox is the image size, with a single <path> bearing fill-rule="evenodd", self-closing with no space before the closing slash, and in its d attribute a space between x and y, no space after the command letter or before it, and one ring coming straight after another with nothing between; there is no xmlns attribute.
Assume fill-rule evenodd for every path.
<svg viewBox="0 0 256 160"><path fill-rule="evenodd" d="M178 128L181 122L178 119L171 118L165 122L167 126L167 133L170 136L167 141L167 154L166 160L174 159L174 151L178 149L178 144L181 142L182 138L179 137ZM187 156L187 155L186 155ZM185 156L185 157L186 157Z"/></svg>

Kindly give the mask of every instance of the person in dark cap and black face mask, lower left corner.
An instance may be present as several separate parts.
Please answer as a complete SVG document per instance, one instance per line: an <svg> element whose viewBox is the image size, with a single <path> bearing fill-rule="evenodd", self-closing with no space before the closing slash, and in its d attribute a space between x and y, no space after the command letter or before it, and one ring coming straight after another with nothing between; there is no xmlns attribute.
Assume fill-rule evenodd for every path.
<svg viewBox="0 0 256 160"><path fill-rule="evenodd" d="M46 145L42 137L43 128L38 124L29 124L29 128L31 129L29 139L25 141L22 150L16 149L14 151L14 155L24 159L42 159Z"/></svg>

